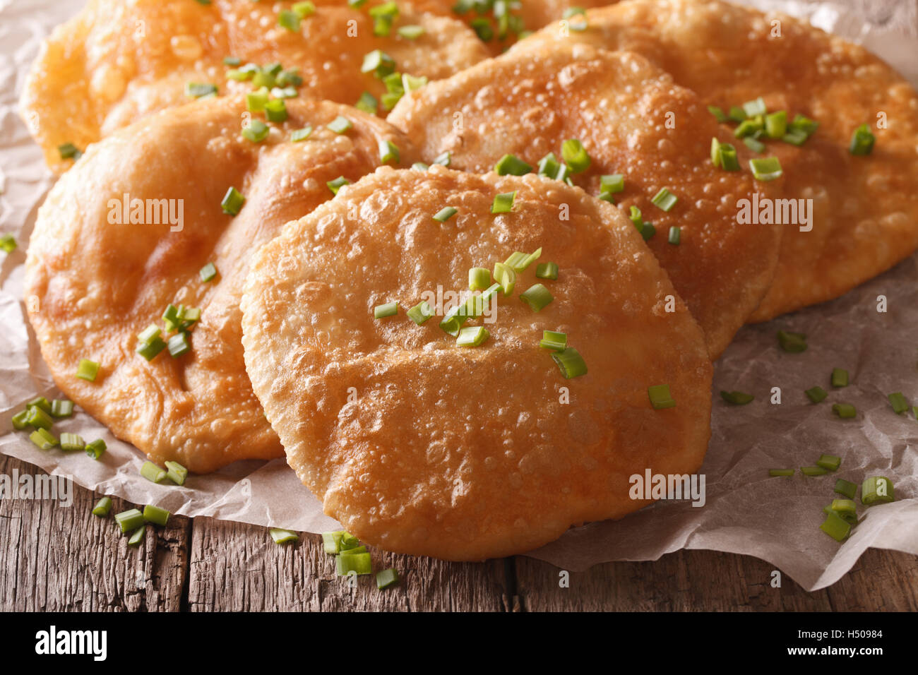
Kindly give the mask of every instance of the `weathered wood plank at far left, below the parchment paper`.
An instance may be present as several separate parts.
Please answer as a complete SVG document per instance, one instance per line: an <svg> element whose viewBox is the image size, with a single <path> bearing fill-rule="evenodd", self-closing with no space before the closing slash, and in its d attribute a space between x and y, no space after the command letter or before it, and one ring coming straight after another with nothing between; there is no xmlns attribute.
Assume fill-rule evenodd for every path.
<svg viewBox="0 0 918 675"><path fill-rule="evenodd" d="M0 456L0 473L47 476ZM0 609L29 612L177 611L188 567L189 521L174 516L128 546L111 515L90 512L101 495L72 485L73 504L0 501ZM112 513L134 504L114 499Z"/></svg>

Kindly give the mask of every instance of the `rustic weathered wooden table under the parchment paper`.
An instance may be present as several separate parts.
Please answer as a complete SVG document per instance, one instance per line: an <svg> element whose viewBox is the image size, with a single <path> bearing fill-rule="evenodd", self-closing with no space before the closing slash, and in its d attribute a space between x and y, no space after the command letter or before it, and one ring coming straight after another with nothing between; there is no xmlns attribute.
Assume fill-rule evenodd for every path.
<svg viewBox="0 0 918 675"><path fill-rule="evenodd" d="M859 16L918 36L918 0L847 0ZM0 473L41 474L0 456ZM529 557L449 563L374 551L397 588L354 589L335 576L320 537L277 546L266 528L174 516L138 549L89 515L100 495L74 486L73 505L0 501L0 611L918 611L918 557L870 549L843 579L807 592L753 557L678 551L572 573ZM134 504L114 500L116 512Z"/></svg>

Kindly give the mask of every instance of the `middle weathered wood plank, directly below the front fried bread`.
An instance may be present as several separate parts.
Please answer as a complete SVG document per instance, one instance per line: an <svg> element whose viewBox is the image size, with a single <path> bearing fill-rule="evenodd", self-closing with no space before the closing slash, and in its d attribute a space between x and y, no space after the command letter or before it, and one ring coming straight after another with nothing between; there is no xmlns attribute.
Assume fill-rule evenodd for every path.
<svg viewBox="0 0 918 675"><path fill-rule="evenodd" d="M351 588L335 575L318 534L274 544L267 528L196 518L191 537L188 608L239 611L501 612L510 601L502 560L448 563L372 551L374 568L397 568L397 587L378 591L375 577Z"/></svg>

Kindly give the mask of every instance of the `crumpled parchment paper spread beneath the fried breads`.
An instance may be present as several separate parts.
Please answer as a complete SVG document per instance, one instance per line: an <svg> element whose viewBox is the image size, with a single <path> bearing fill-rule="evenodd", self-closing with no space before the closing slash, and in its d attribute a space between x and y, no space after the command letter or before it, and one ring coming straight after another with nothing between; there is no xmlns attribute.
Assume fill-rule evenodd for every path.
<svg viewBox="0 0 918 675"><path fill-rule="evenodd" d="M825 30L860 41L918 83L918 41L890 33L869 17L830 4L755 0L760 9L806 17ZM17 96L39 42L73 16L81 0L0 0L0 232L16 236L19 249L0 253L0 429L22 404L42 394L61 398L26 320L23 263L36 211L53 182L39 148L17 115ZM878 312L878 297L887 299ZM579 570L609 560L653 560L679 548L707 548L763 558L807 590L840 579L868 548L918 554L918 421L895 415L887 394L901 391L918 401L918 257L856 288L843 298L747 326L715 366L712 434L700 473L706 504L663 501L620 521L570 530L532 557ZM804 332L803 354L778 349L778 329ZM852 384L832 389L828 377L844 367ZM804 389L820 385L829 399L812 405ZM772 388L781 402L772 403ZM721 389L756 395L743 407L726 405ZM856 405L856 420L840 420L831 403ZM239 462L215 474L188 478L185 487L155 485L140 477L144 457L77 410L55 431L103 438L99 462L82 453L41 452L23 433L0 436L0 452L53 475L135 503L153 503L187 516L206 515L244 523L321 532L337 529L319 501L285 461ZM823 453L842 456L837 474L819 478L769 478L771 467L812 465ZM893 480L897 501L868 509L842 545L817 529L836 478L856 483L867 476Z"/></svg>

